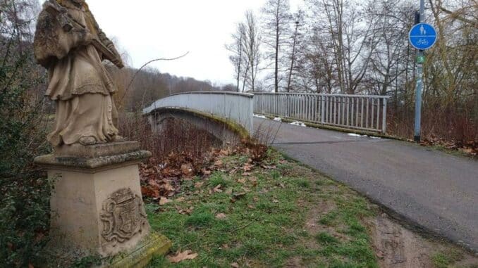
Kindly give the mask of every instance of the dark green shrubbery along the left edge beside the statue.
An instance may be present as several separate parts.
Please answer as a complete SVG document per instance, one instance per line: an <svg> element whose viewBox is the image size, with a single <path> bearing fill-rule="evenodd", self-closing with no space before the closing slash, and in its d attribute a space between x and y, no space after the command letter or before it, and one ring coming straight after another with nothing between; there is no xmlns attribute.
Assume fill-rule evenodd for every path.
<svg viewBox="0 0 478 268"><path fill-rule="evenodd" d="M26 19L35 13L32 3L1 3L0 264L5 267L34 263L49 227L49 183L32 165L35 156L49 151L42 92L46 76L33 60Z"/></svg>

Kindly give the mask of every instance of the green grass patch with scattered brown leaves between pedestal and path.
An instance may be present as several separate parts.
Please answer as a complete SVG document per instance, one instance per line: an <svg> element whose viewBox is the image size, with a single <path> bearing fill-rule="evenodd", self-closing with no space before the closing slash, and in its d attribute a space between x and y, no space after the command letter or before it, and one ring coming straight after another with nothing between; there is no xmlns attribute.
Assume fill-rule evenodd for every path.
<svg viewBox="0 0 478 268"><path fill-rule="evenodd" d="M223 170L247 159L223 158ZM235 262L240 267L284 267L292 260L303 267L377 267L362 225L364 217L374 215L367 200L274 151L265 161L266 167L277 168L256 165L249 176L213 172L201 179L200 187L195 187L199 179L183 181L182 200L147 205L152 228L173 241L173 252L199 254L178 264L158 257L149 267L230 267ZM219 185L221 191L212 191ZM313 215L324 203L333 209ZM178 212L191 207L190 215ZM311 215L332 232L307 229Z"/></svg>

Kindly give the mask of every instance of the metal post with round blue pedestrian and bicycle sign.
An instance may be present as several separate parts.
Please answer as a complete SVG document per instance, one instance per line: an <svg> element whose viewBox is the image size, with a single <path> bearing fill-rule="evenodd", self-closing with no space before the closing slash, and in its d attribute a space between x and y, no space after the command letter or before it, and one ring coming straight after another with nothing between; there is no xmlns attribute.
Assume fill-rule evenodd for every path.
<svg viewBox="0 0 478 268"><path fill-rule="evenodd" d="M425 56L423 51L431 48L436 42L436 30L433 26L423 23L425 3L420 0L419 22L412 27L408 34L410 44L418 49L417 54L417 87L415 90L415 134L414 139L420 142L422 124L422 90L423 90L423 63Z"/></svg>

